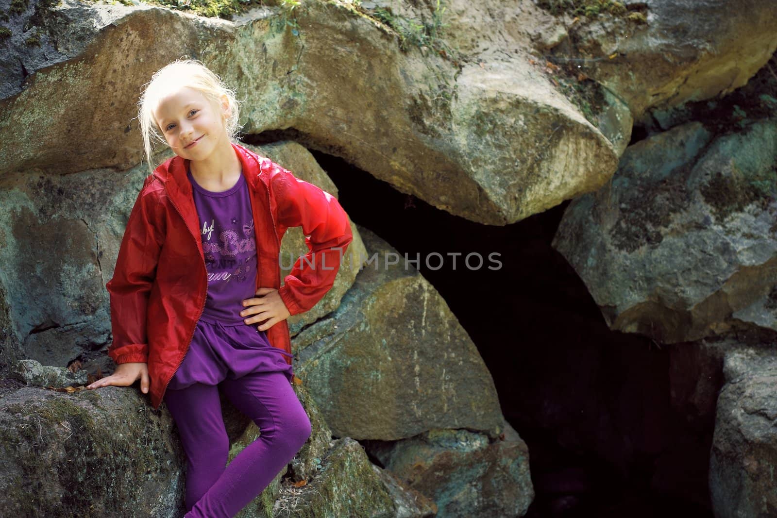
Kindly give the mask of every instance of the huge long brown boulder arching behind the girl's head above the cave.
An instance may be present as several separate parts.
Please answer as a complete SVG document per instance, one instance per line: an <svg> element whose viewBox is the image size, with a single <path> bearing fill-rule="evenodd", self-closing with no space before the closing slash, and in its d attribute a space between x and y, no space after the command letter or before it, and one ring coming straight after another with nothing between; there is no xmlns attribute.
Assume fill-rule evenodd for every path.
<svg viewBox="0 0 777 518"><path fill-rule="evenodd" d="M153 71L182 54L204 58L237 89L246 133L291 128L308 147L473 221L517 221L615 171L615 137L524 55L402 48L385 16L340 2L301 2L292 23L281 7L227 21L145 5L40 1L23 16L51 60L36 54L23 81L16 59L0 63L8 71L0 101L7 171L138 164L136 100ZM408 16L425 11L406 7ZM22 44L16 35L10 41ZM630 123L615 122L618 142L628 140Z"/></svg>

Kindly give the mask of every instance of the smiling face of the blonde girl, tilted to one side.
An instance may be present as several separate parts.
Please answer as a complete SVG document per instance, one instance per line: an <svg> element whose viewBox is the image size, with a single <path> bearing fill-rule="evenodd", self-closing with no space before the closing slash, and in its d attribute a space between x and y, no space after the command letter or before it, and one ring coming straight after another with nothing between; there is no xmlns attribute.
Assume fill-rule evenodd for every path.
<svg viewBox="0 0 777 518"><path fill-rule="evenodd" d="M204 160L229 142L227 96L212 103L199 90L185 86L162 98L154 116L167 144L181 158Z"/></svg>

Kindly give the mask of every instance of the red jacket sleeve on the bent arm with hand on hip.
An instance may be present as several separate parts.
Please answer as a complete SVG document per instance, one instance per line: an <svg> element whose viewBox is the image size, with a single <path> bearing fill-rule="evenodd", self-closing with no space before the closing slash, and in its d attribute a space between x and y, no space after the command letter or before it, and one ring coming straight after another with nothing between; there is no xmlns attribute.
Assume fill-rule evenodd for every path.
<svg viewBox="0 0 777 518"><path fill-rule="evenodd" d="M294 262L278 293L291 315L315 306L335 282L353 239L348 216L334 196L273 164L278 223L302 227L308 253Z"/></svg>

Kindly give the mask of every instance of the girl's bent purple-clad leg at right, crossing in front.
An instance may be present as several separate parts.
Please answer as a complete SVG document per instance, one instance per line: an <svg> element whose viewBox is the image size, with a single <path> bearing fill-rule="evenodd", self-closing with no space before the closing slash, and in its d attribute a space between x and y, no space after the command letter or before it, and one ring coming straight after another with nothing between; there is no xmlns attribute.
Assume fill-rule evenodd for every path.
<svg viewBox="0 0 777 518"><path fill-rule="evenodd" d="M310 419L283 372L225 379L222 387L261 436L232 459L185 518L232 518L270 485L311 434Z"/></svg>

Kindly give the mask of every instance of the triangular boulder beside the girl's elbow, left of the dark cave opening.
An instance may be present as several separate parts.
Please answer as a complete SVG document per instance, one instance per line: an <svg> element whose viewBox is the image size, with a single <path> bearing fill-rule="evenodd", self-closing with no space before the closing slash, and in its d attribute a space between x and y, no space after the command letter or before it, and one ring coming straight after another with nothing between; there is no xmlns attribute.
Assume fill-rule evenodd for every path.
<svg viewBox="0 0 777 518"><path fill-rule="evenodd" d="M292 341L295 373L333 433L397 440L467 428L498 436L499 398L472 339L412 264L359 231L370 260L340 307Z"/></svg>

